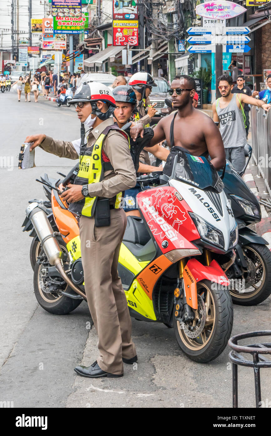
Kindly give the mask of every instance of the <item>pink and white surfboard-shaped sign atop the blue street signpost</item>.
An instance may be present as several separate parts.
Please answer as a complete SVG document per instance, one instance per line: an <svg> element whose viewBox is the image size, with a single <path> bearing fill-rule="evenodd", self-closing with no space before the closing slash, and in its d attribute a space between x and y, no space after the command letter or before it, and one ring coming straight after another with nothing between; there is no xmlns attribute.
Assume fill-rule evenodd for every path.
<svg viewBox="0 0 271 436"><path fill-rule="evenodd" d="M204 18L229 20L244 14L246 8L231 1L210 1L196 6L196 14Z"/></svg>

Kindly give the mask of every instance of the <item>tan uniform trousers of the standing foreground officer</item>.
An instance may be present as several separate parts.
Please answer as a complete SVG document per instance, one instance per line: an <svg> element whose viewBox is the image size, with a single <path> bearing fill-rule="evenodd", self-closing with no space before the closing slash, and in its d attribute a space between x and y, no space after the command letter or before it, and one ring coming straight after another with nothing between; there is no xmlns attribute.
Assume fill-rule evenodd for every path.
<svg viewBox="0 0 271 436"><path fill-rule="evenodd" d="M122 374L122 358L136 355L127 300L117 272L127 219L123 209L110 210L110 217L110 226L96 227L94 218L81 216L80 240L87 303L98 334L97 363L103 371Z"/></svg>

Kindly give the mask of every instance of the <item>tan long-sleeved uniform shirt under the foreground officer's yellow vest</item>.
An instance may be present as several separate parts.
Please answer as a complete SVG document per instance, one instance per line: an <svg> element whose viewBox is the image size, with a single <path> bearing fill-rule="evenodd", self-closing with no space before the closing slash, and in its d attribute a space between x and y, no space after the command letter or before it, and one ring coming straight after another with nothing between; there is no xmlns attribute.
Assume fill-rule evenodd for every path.
<svg viewBox="0 0 271 436"><path fill-rule="evenodd" d="M114 124L113 118L108 118L88 133L87 147L92 146L107 126ZM77 151L71 142L54 140L46 136L40 147L59 157L78 159ZM136 173L129 145L122 133L110 130L103 142L103 151L114 170L105 171L104 179L88 185L90 197L113 198L119 192L132 188L136 184Z"/></svg>

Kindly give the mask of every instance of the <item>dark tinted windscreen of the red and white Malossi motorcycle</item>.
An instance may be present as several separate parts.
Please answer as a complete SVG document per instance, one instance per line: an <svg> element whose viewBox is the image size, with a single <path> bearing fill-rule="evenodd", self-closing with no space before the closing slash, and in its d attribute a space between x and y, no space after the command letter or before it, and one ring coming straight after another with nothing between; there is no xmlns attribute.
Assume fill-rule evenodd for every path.
<svg viewBox="0 0 271 436"><path fill-rule="evenodd" d="M224 188L217 170L211 167L206 157L192 156L181 150L178 151L175 178L199 189L211 189L218 193Z"/></svg>

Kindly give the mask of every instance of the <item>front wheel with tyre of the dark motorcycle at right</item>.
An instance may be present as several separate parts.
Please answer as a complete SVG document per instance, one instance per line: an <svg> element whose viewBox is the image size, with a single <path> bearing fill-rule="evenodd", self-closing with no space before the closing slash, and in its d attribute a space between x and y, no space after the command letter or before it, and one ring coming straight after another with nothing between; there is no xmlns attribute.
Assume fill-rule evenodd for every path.
<svg viewBox="0 0 271 436"><path fill-rule="evenodd" d="M232 301L241 306L255 306L271 294L271 252L266 245L248 244L242 247L247 267L242 276L231 280Z"/></svg>

